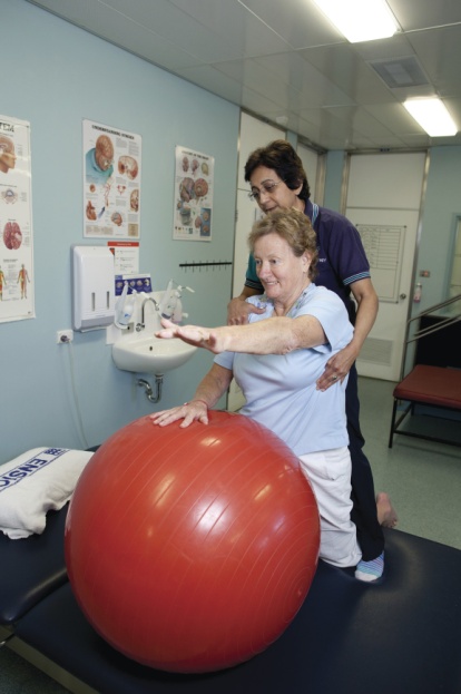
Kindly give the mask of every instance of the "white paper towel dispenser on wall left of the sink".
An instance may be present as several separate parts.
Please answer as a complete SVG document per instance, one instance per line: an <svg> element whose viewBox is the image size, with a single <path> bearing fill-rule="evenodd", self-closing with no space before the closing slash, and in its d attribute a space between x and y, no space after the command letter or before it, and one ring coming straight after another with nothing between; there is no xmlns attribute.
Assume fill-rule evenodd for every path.
<svg viewBox="0 0 461 694"><path fill-rule="evenodd" d="M115 267L107 246L72 246L73 330L106 328L114 322Z"/></svg>

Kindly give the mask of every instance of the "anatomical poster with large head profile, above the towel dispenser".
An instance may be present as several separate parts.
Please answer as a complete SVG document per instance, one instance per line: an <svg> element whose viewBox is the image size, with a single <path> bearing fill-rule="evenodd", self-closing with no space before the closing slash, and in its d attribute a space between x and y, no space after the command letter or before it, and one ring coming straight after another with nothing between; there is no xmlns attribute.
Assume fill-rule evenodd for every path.
<svg viewBox="0 0 461 694"><path fill-rule="evenodd" d="M141 137L84 120L84 236L140 236Z"/></svg>

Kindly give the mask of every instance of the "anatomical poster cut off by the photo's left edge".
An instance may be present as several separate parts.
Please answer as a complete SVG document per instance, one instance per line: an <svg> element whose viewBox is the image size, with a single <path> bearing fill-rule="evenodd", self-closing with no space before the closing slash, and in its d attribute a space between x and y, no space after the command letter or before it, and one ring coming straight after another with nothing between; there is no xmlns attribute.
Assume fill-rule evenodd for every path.
<svg viewBox="0 0 461 694"><path fill-rule="evenodd" d="M0 323L33 319L30 124L0 116Z"/></svg>

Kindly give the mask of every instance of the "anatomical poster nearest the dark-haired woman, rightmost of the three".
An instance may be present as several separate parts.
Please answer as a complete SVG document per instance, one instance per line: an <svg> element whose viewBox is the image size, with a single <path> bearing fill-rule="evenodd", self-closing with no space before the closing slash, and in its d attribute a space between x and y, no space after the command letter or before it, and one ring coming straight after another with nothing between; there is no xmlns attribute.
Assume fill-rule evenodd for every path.
<svg viewBox="0 0 461 694"><path fill-rule="evenodd" d="M173 238L212 241L214 157L176 147Z"/></svg>

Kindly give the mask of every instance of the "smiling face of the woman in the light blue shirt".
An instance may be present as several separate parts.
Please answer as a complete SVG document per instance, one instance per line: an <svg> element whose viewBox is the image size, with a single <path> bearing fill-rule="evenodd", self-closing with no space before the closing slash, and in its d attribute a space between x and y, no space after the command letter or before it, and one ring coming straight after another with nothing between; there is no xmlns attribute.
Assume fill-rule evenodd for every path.
<svg viewBox="0 0 461 694"><path fill-rule="evenodd" d="M301 291L307 280L308 254L296 257L290 244L276 233L256 241L254 258L257 276L269 299L283 303Z"/></svg>

